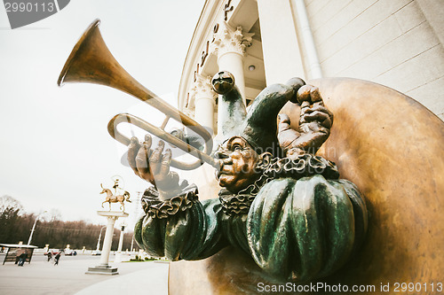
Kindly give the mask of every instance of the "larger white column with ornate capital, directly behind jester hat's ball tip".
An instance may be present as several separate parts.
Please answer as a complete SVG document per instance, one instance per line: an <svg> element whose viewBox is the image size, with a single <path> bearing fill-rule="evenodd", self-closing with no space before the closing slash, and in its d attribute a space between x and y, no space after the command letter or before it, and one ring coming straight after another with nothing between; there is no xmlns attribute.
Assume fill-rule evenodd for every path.
<svg viewBox="0 0 444 295"><path fill-rule="evenodd" d="M246 48L252 42L251 33L242 33L242 27L233 28L223 21L218 33L214 34L211 49L218 56L219 71L228 71L234 75L236 86L242 94L245 104L245 78L243 74L243 58Z"/></svg>

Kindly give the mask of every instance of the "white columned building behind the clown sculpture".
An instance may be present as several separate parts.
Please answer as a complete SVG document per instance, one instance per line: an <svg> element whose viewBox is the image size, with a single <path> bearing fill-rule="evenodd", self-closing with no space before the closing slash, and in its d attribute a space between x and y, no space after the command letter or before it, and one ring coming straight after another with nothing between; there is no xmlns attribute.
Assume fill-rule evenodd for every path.
<svg viewBox="0 0 444 295"><path fill-rule="evenodd" d="M432 0L207 0L186 54L178 107L217 139L224 114L210 79L219 71L234 74L247 106L266 86L291 77L351 77L413 97L442 120L442 12L444 4ZM189 175L201 198L218 192L210 170Z"/></svg>

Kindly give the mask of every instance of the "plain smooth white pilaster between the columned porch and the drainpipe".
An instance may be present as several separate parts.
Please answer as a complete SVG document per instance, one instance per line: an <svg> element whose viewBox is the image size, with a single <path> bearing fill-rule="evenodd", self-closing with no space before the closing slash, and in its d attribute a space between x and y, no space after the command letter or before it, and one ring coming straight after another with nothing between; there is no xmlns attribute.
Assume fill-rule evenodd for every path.
<svg viewBox="0 0 444 295"><path fill-rule="evenodd" d="M305 79L296 21L289 0L258 0L266 84Z"/></svg>

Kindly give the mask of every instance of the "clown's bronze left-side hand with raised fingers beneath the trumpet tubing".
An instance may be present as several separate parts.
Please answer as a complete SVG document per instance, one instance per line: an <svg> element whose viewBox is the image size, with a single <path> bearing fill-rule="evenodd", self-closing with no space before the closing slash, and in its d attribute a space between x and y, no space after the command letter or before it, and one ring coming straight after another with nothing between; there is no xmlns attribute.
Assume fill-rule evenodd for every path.
<svg viewBox="0 0 444 295"><path fill-rule="evenodd" d="M142 144L137 137L132 137L128 145L128 162L136 175L155 186L161 198L172 198L187 183L179 185L178 174L170 171L171 150L163 152L163 141L155 149L151 149L151 144L151 136L145 136Z"/></svg>

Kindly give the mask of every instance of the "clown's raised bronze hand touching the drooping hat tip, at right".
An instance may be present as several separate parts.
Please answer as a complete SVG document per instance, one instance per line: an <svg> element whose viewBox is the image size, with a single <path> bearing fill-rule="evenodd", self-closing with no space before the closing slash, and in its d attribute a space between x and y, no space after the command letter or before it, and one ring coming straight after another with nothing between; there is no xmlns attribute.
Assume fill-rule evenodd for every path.
<svg viewBox="0 0 444 295"><path fill-rule="evenodd" d="M300 154L315 154L329 138L333 124L333 114L324 106L319 89L305 85L297 91L297 101L301 104L299 128L290 128L289 116L279 115L278 140L289 158Z"/></svg>

